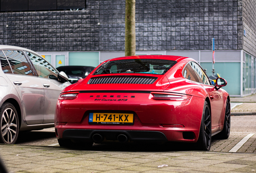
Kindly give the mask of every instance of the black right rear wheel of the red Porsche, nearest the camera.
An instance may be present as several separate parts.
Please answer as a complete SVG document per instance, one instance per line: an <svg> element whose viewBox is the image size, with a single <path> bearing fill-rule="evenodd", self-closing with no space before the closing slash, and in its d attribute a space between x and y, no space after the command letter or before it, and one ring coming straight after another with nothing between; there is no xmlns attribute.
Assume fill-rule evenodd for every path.
<svg viewBox="0 0 256 173"><path fill-rule="evenodd" d="M204 101L204 110L200 126L199 138L197 141L198 150L209 151L212 140L211 111L208 103Z"/></svg>

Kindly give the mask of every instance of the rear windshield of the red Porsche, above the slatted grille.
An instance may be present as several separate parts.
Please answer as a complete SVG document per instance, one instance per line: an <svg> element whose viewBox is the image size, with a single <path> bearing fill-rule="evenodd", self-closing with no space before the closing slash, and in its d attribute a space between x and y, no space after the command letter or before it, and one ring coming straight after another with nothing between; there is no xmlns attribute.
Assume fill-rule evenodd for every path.
<svg viewBox="0 0 256 173"><path fill-rule="evenodd" d="M107 61L94 73L147 73L165 74L177 61L163 59L127 59Z"/></svg>

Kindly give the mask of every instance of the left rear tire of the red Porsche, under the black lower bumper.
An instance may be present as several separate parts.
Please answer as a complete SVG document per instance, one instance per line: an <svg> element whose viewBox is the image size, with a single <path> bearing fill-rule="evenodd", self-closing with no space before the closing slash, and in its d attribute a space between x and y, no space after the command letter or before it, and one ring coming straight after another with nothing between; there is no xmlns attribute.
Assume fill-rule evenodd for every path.
<svg viewBox="0 0 256 173"><path fill-rule="evenodd" d="M58 143L60 147L70 147L70 148L83 148L83 149L91 149L93 146L93 142L85 142L81 140L70 140L70 139L58 139Z"/></svg>

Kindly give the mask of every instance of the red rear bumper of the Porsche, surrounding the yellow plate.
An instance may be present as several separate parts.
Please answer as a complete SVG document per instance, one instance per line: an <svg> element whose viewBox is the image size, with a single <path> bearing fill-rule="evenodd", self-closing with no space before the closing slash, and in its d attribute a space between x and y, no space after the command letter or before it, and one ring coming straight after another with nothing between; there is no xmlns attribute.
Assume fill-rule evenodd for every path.
<svg viewBox="0 0 256 173"><path fill-rule="evenodd" d="M119 97L128 99L111 99ZM204 99L199 97L187 101L155 101L150 93L79 93L77 99L58 100L56 135L58 139L92 140L92 135L100 132L106 133L106 140L115 140L106 136L125 133L131 141L196 142L203 103ZM134 124L89 124L89 113L132 113ZM57 125L57 122L65 125Z"/></svg>

